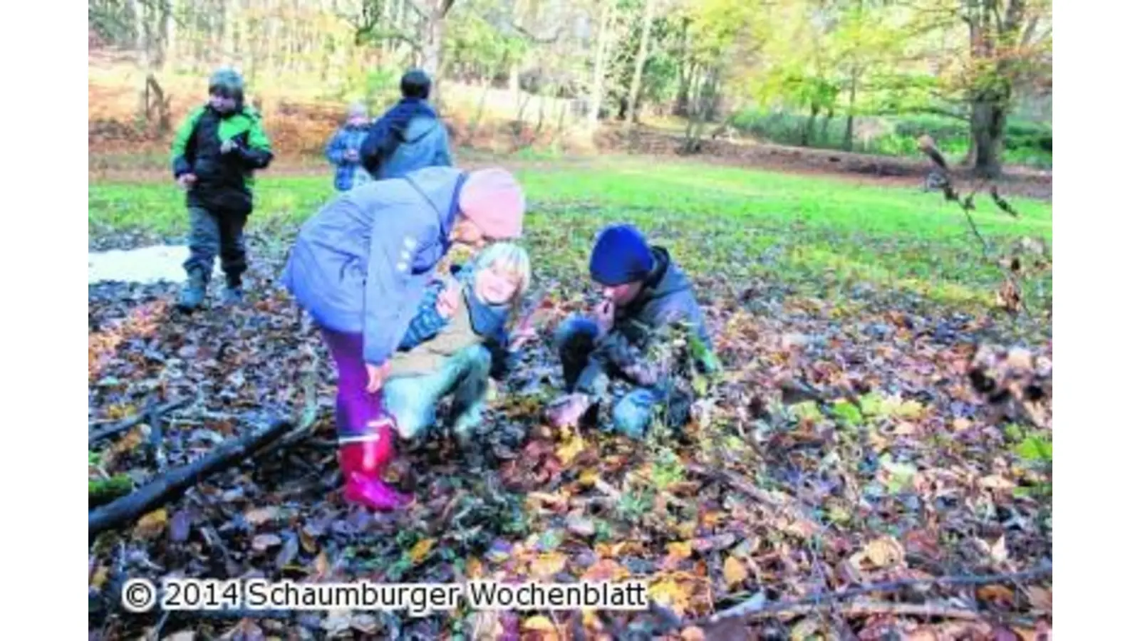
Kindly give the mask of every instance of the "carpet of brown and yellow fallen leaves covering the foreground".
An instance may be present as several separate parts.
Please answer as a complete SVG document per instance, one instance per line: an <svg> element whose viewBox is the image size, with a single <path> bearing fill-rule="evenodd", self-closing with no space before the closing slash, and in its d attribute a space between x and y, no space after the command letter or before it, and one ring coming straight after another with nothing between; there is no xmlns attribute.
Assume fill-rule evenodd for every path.
<svg viewBox="0 0 1140 641"><path fill-rule="evenodd" d="M678 244L684 251L685 242ZM700 253L692 246L687 252ZM679 255L685 263L694 260ZM1048 530L1036 518L1042 508L1012 492L1033 478L1025 454L1037 456L1042 444L1051 454L1048 412L1048 429L1035 430L1036 440L1007 443L1001 423L980 411L1005 403L1002 392L1012 393L1015 387L1027 404L1050 407L1048 395L1034 396L1034 386L1044 390L1051 372L1048 347L994 348L991 360L972 350L975 332L999 333L985 318L923 313L898 297L880 305L853 295L840 309L834 301L781 298L776 285L749 283L755 290L751 309L732 295L739 283L698 273L707 278L700 286L702 303L727 371L710 379L708 398L685 427L684 439L633 443L593 425L563 433L544 427L547 392L561 381L551 350L536 342L524 349L526 365L512 374L518 380L503 383L499 398L488 405L487 438L505 430L523 436L514 447L494 454L486 448L484 454L491 459L506 449L513 459L499 456L469 469L446 438L434 437L426 447L401 452L415 482L394 473L393 479L404 478L405 489L414 488L421 501L407 514L369 514L343 505L329 484L335 477L332 451L306 444L287 463L259 462L256 469L245 466L220 479L201 504L170 506L169 519L165 512L144 517L131 544L138 550L131 553L149 554L150 562L192 576L225 568L234 576L258 573L308 582L366 576L401 583L636 578L649 583L651 599L691 623L759 586L796 598L821 583L841 590L866 581L929 577L963 557L1020 567L1050 549ZM92 403L114 419L139 406L139 389L157 384L145 381L161 379L179 390L201 387L212 405L202 419L188 413L194 424L185 433L171 425L168 451L173 457L197 456L239 430L236 408L274 401L293 406L303 397L300 380L309 366L299 355L319 351L319 339L304 333L287 301L272 292L258 295L255 310L227 322L233 327L179 320L170 327L158 324L146 344L124 336L117 354L99 357L101 375L116 378L120 387L93 387ZM570 290L559 305L579 299ZM162 352L168 362L144 365L145 350ZM328 370L318 396L332 399ZM974 384L971 370L979 370L975 378L984 390ZM809 398L789 408L776 382L784 378L805 381L820 390L822 400ZM999 400L991 403L991 397ZM220 398L225 400L213 400ZM331 414L321 405L323 433L315 441L331 440ZM598 420L608 416L602 413ZM107 472L150 473L142 462L142 436L140 430L125 433L98 453L104 462L112 451L119 453L111 456ZM719 476L695 474L694 464ZM1015 512L1018 525L1002 529ZM165 532L169 538L162 538ZM972 534L939 534L963 532ZM971 549L970 536L984 536L984 546ZM105 591L112 583L106 568L114 561L107 553L98 559L93 590ZM969 598L972 590L923 586L917 593L939 601ZM1011 599L1009 587L986 585L977 598L1002 615L1051 614L1048 586L1019 590L1024 594ZM534 616L397 618L409 638L440 638L448 625L453 634L471 638L571 638L563 612L526 614ZM644 612L612 616L622 624L649 620ZM881 619L883 628L905 630L903 635L913 638L983 630L940 627L906 612L858 618L868 628ZM797 626L807 619L789 615L787 630L831 632L814 624ZM391 632L376 614L331 612L318 620L325 631L314 630L329 638ZM588 638L603 634L593 612L584 614L583 624ZM413 631L416 625L423 627ZM740 638L758 632L741 627ZM854 619L853 627L861 630ZM719 638L715 631L691 625L674 634ZM264 626L267 636L291 634L292 624Z"/></svg>

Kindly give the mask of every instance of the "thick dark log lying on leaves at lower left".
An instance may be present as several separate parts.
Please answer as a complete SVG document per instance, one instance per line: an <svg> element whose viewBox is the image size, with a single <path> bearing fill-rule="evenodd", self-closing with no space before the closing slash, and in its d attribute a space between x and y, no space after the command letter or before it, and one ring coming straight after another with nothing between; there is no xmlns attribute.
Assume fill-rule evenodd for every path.
<svg viewBox="0 0 1140 641"><path fill-rule="evenodd" d="M284 433L290 425L292 425L291 421L274 421L243 437L230 439L197 461L170 470L138 490L88 512L88 539L91 541L101 532L133 521L186 492L203 478L233 466L250 454L262 449Z"/></svg>

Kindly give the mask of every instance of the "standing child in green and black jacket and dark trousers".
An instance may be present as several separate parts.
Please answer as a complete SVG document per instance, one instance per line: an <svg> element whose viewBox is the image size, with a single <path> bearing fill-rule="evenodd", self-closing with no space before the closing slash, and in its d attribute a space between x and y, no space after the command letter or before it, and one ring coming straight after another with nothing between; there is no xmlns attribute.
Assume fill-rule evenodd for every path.
<svg viewBox="0 0 1140 641"><path fill-rule="evenodd" d="M174 133L174 179L186 189L190 213L190 257L184 311L203 303L213 261L221 255L226 303L242 299L246 269L245 221L253 211L253 171L269 167L274 154L261 116L245 106L244 81L230 68L210 78L210 102L194 109Z"/></svg>

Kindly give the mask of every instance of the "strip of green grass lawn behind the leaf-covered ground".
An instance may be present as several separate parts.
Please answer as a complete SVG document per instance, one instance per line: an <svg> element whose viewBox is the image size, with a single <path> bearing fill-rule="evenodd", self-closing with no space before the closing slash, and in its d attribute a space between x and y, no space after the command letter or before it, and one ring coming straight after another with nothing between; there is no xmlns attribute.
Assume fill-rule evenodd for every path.
<svg viewBox="0 0 1140 641"><path fill-rule="evenodd" d="M629 221L666 244L697 276L795 284L834 298L853 286L912 292L951 306L991 306L1000 270L982 258L958 205L939 194L695 163L610 160L518 172L530 210L527 243L542 270L581 271L593 234ZM275 177L256 185L251 229L287 233L332 195L325 176ZM89 187L92 235L185 230L181 193L170 182ZM975 220L995 248L1052 238L1048 203L1012 200L1020 218L980 200ZM1026 287L1048 308L1051 275Z"/></svg>

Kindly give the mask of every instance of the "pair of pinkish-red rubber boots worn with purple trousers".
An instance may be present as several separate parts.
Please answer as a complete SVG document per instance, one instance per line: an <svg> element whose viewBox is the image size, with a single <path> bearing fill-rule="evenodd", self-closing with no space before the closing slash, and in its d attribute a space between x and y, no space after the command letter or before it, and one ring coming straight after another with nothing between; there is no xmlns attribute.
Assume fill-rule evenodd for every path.
<svg viewBox="0 0 1140 641"><path fill-rule="evenodd" d="M353 437L348 441L342 439L340 463L344 476L344 500L385 512L410 505L412 496L381 480L391 459L391 427L381 427L376 435Z"/></svg>

